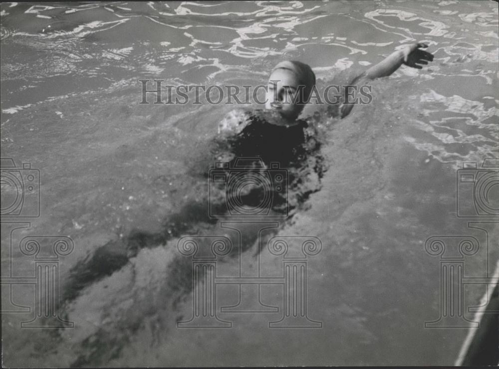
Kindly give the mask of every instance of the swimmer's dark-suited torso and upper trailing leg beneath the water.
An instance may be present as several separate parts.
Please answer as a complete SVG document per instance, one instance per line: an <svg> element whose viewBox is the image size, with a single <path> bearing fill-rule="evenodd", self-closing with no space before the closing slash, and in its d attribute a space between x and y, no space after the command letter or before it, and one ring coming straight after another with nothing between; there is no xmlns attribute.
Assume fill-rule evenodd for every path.
<svg viewBox="0 0 499 369"><path fill-rule="evenodd" d="M230 217L233 211L250 209L248 215L253 220L255 214L266 219L291 218L310 194L320 190L326 165L320 155L320 135L313 124L306 120L296 120L291 125L284 122L275 111L231 111L220 122L208 157L212 170L214 162L226 163L226 178L242 173L241 181L232 187L227 181L212 182L210 191L202 185L198 188L201 200L186 201L165 220L161 232L134 231L97 248L70 271L64 300L73 300L89 284L122 268L142 248L157 247L184 234L199 234L202 229L213 227L220 217ZM274 173L283 177L279 183L274 181ZM193 175L206 179L210 173ZM242 247L247 249L253 245L256 234L252 228L243 233ZM179 261L179 268L182 265Z"/></svg>

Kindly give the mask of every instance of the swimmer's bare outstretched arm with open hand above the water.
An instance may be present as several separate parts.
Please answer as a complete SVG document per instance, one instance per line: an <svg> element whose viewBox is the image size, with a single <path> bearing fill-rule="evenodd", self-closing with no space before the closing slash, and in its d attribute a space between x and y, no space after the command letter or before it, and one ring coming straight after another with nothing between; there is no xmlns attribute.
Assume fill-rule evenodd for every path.
<svg viewBox="0 0 499 369"><path fill-rule="evenodd" d="M412 68L422 69L422 65L428 64L428 62L433 61L433 54L428 51L422 50L427 48L426 43L413 43L412 45L406 46L401 50L394 51L389 56L387 56L383 61L371 68L366 70L364 73L355 77L350 85L355 85L359 80L363 78L375 79L379 77L386 77L395 72L400 68L402 64L410 66ZM420 65L422 64L422 65ZM350 113L353 108L353 104L343 104L341 107L341 117L345 117Z"/></svg>

